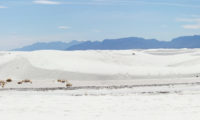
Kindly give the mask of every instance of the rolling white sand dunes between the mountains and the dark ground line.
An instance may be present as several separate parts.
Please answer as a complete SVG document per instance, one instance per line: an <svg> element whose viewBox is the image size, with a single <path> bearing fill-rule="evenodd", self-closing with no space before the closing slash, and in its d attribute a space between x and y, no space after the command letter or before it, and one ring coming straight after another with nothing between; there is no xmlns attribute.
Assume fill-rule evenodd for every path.
<svg viewBox="0 0 200 120"><path fill-rule="evenodd" d="M135 55L133 55L135 53ZM123 51L0 52L0 79L12 78L7 87L31 79L24 87L140 85L200 82L200 49Z"/></svg>

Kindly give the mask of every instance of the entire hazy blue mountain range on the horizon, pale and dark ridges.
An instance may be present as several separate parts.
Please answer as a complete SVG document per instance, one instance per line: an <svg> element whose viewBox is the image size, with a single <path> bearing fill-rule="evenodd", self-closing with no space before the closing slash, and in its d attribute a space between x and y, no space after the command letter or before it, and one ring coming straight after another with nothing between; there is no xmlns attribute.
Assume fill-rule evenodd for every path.
<svg viewBox="0 0 200 120"><path fill-rule="evenodd" d="M156 48L200 48L200 35L182 36L171 41L144 39L138 37L105 39L103 41L72 41L35 43L30 46L15 49L15 51L33 50L126 50L126 49L156 49Z"/></svg>

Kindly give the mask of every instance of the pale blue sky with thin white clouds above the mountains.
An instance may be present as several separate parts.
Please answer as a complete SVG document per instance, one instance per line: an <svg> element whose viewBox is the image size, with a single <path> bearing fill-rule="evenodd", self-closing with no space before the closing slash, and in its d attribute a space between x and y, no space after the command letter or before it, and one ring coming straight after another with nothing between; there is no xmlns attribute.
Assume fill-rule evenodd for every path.
<svg viewBox="0 0 200 120"><path fill-rule="evenodd" d="M200 0L1 0L0 50L35 42L200 34Z"/></svg>

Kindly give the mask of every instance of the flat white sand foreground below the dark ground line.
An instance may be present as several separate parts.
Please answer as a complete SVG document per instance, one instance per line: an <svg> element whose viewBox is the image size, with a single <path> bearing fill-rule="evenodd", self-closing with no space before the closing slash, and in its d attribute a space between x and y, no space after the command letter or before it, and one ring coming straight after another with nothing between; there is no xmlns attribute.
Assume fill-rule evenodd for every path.
<svg viewBox="0 0 200 120"><path fill-rule="evenodd" d="M172 87L169 93L156 92L170 90L169 86L0 91L0 116L4 120L200 119L200 86L183 85L178 88L181 92L174 92Z"/></svg>

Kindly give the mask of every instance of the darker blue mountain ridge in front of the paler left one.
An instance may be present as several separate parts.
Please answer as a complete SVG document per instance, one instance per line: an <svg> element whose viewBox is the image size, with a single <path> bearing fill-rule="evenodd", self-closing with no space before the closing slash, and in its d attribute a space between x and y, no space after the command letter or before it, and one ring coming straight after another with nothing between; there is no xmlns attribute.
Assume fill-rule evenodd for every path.
<svg viewBox="0 0 200 120"><path fill-rule="evenodd" d="M83 42L81 44L73 45L67 50L126 50L157 48L200 48L200 36L183 36L167 42L138 37L106 39L102 42Z"/></svg>

